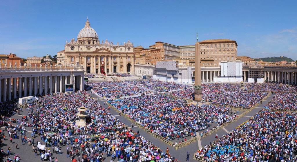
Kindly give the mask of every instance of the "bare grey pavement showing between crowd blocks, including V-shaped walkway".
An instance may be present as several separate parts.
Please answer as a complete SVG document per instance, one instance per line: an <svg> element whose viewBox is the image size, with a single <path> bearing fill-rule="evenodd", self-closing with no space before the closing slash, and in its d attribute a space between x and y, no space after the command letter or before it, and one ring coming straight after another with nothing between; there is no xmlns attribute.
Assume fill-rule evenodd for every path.
<svg viewBox="0 0 297 162"><path fill-rule="evenodd" d="M93 97L96 97L95 95L92 95ZM201 143L201 146L204 147L205 145L213 142L215 139L215 134L218 134L219 137L223 136L224 134L227 134L227 132L232 131L234 128L236 128L238 125L240 125L241 123L244 123L245 121L247 121L250 116L255 115L257 112L259 112L261 109L263 109L263 106L265 104L267 104L271 99L273 98L273 96L268 96L268 98L263 101L262 104L258 105L257 107L255 107L254 109L252 109L252 111L250 111L249 113L247 113L244 117L241 117L240 119L238 119L237 121L235 121L234 123L229 124L228 126L225 127L225 129L220 129L218 130L216 133L213 133L207 137L205 137L204 139L201 139L200 141L198 140L198 142L193 142L191 144L189 144L186 147L182 147L178 150L175 150L173 147L168 146L166 143L161 142L159 139L154 138L153 136L151 136L150 134L146 133L146 131L144 131L143 129L139 128L139 127L134 127L132 128L134 131L139 131L140 135L144 136L146 139L148 139L149 141L151 141L153 144L157 145L158 147L161 148L161 150L165 151L167 149L167 147L169 148L169 153L177 158L179 161L183 162L186 161L186 155L187 152L190 154L190 160L191 162L197 162L196 160L194 160L192 157L195 153L195 151L198 149L198 143ZM98 102L100 104L102 104L106 109L108 109L108 105L104 104L106 101L103 100L98 100ZM35 111L35 109L34 109ZM125 123L128 126L131 126L131 122L129 120L127 120L125 117L119 115L118 112L116 112L113 109L109 110L113 115L116 115L117 118L119 118L121 120L121 122ZM236 114L241 114L240 113L236 113ZM20 112L20 115L13 115L13 118L19 119L22 117L22 115L28 115L26 110L22 110L22 112ZM31 120L29 119L28 122L31 122ZM1 128L2 130L4 130L4 128ZM26 128L26 136L28 136L29 138L31 137L31 128L27 127ZM5 131L5 135L7 136L7 131ZM1 136L2 138L2 136ZM2 139L3 140L3 139ZM38 135L35 135L35 147L37 145L37 142L41 142L41 139ZM16 145L18 144L18 148L16 148ZM44 142L42 143L44 144ZM11 148L11 154L10 154L10 158L14 158L14 155L18 155L21 157L21 161L22 162L35 162L35 161L41 161L40 160L40 155L35 156L35 154L32 152L32 146L29 146L29 144L21 144L21 140L20 140L20 136L18 135L17 139L13 139L12 143L10 143L9 138L6 137L6 140L3 141L1 148L5 151L5 153L7 154L7 148L10 147ZM67 146L62 146L61 147L61 151L62 154L61 155L57 155L56 153L53 154L53 160L57 157L59 162L70 162L71 159L67 158L67 154L66 154L66 148ZM50 147L50 150L51 147ZM6 155L5 155L6 156ZM77 159L77 158L76 158ZM5 161L5 157L0 159L1 161ZM116 159L117 160L117 159ZM116 161L115 160L115 161ZM105 160L104 162L109 162L110 161L110 157L106 157L105 154Z"/></svg>

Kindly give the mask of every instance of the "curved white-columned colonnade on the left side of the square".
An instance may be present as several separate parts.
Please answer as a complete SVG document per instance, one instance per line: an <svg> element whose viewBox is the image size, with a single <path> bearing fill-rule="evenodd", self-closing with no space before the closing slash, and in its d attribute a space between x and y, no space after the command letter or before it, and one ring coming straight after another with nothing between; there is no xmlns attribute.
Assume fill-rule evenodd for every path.
<svg viewBox="0 0 297 162"><path fill-rule="evenodd" d="M0 67L0 102L25 96L65 92L65 84L84 90L82 67Z"/></svg>

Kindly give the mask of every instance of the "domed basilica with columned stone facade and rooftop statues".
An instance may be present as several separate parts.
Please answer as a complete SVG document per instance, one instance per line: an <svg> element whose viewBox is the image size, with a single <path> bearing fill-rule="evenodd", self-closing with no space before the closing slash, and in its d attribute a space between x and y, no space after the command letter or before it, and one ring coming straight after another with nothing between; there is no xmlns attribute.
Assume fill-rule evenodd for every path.
<svg viewBox="0 0 297 162"><path fill-rule="evenodd" d="M107 39L100 42L87 18L77 40L66 41L65 49L57 52L57 65L79 64L86 73L130 73L134 72L134 57L133 43L129 40L124 45Z"/></svg>

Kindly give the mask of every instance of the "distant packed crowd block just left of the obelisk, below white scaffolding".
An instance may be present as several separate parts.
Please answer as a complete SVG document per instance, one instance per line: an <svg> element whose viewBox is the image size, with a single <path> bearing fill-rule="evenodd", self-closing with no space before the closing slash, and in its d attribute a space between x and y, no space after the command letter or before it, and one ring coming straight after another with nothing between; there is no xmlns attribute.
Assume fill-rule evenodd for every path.
<svg viewBox="0 0 297 162"><path fill-rule="evenodd" d="M187 89L191 86L185 84L178 84L175 82L163 82L159 80L129 80L127 81L133 85L140 85L142 87L154 90L157 92L168 92L170 90Z"/></svg>

